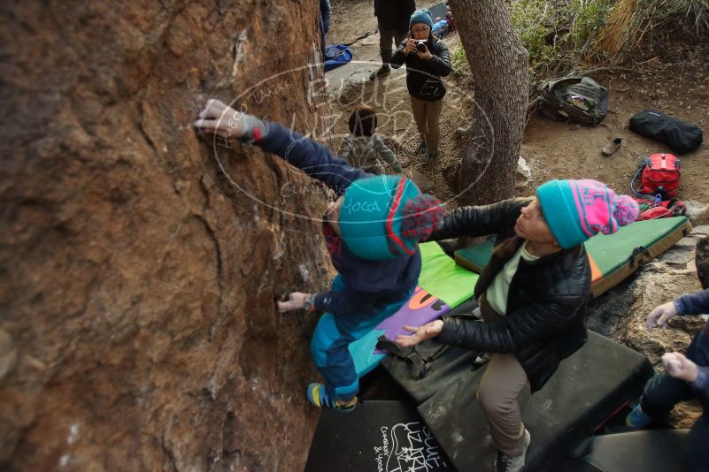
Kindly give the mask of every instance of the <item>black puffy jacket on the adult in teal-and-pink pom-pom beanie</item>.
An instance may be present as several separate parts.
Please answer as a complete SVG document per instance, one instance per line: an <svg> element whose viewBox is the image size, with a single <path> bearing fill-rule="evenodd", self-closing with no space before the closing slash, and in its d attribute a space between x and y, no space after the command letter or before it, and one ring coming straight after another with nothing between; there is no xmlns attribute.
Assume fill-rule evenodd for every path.
<svg viewBox="0 0 709 472"><path fill-rule="evenodd" d="M520 210L531 199L513 199L484 207L459 208L445 217L431 236L497 234L492 258L482 270L474 294L485 293L497 273L524 242L514 235ZM545 255L535 262L520 259L507 294L505 319L477 323L445 318L440 340L489 353L512 353L527 373L532 392L587 338L584 311L590 297L590 264L583 245Z"/></svg>

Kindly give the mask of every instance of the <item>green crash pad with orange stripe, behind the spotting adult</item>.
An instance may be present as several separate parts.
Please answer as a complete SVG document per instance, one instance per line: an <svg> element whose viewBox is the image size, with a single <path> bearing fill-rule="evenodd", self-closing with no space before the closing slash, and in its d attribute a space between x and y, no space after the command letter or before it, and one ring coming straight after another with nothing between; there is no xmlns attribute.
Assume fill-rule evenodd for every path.
<svg viewBox="0 0 709 472"><path fill-rule="evenodd" d="M599 234L584 245L591 266L591 292L594 297L607 292L628 278L643 263L664 253L692 231L686 217L636 221L614 234ZM480 273L492 255L492 241L460 249L456 263Z"/></svg>

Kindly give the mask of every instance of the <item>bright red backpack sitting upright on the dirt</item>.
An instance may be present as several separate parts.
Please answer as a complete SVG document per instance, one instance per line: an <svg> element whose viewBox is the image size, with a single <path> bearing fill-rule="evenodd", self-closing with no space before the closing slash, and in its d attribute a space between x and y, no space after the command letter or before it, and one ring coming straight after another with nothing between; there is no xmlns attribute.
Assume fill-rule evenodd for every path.
<svg viewBox="0 0 709 472"><path fill-rule="evenodd" d="M633 187L638 174L640 188ZM656 195L662 200L669 200L677 194L680 187L680 160L672 154L653 154L643 159L636 176L630 182L634 194Z"/></svg>

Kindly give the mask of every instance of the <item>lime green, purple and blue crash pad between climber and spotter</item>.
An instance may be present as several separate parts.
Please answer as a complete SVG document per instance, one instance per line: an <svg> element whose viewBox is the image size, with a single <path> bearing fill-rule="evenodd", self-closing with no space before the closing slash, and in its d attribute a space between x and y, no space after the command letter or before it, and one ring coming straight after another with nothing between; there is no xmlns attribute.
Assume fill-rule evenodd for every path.
<svg viewBox="0 0 709 472"><path fill-rule="evenodd" d="M374 369L384 357L385 353L376 349L381 336L397 339L397 334L408 334L403 328L405 324L427 324L473 296L477 274L459 267L435 242L420 244L420 251L420 285L412 298L397 313L350 345L359 377Z"/></svg>

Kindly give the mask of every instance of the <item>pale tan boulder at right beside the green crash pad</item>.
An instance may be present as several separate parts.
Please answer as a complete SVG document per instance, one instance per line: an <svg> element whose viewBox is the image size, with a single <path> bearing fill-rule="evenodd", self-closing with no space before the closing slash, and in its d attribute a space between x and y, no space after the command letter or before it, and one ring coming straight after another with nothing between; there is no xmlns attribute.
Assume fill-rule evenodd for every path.
<svg viewBox="0 0 709 472"><path fill-rule="evenodd" d="M695 268L697 240L706 238L709 226L697 226L667 253L638 271L632 281L615 287L590 304L589 327L645 354L657 371L667 352L685 352L692 336L705 323L701 316L675 316L667 330L648 331L645 318L652 308L674 297L701 289ZM689 427L701 413L696 402L674 409L671 423Z"/></svg>

